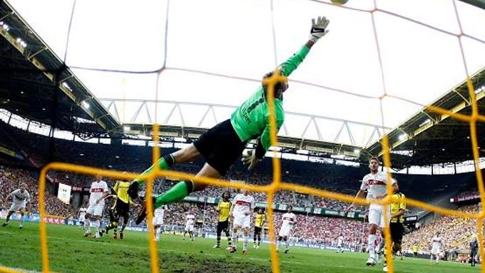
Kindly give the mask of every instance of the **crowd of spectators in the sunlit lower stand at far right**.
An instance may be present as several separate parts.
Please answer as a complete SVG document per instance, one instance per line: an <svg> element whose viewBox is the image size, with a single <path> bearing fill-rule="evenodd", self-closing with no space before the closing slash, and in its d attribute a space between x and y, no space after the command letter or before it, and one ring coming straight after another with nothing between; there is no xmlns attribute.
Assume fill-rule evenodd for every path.
<svg viewBox="0 0 485 273"><path fill-rule="evenodd" d="M458 210L460 212L477 213L480 207L480 204L476 204L459 207ZM419 251L429 252L432 247L432 238L437 232L443 239L442 249L448 251L468 249L469 242L478 233L475 219L443 216L404 235L403 249L410 250L412 246L417 245Z"/></svg>

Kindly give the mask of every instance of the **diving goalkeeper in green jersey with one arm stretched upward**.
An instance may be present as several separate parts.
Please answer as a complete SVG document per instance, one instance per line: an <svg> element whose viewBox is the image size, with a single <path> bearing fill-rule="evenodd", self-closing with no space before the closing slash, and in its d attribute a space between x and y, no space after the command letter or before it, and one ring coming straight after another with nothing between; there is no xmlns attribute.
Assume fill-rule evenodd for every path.
<svg viewBox="0 0 485 273"><path fill-rule="evenodd" d="M297 51L292 57L287 59L277 67L276 71L282 76L290 76L295 69L302 63L310 51L310 48L325 34L327 34L327 26L329 20L325 17L318 17L312 19L312 29L310 31L310 38L305 43L300 51ZM270 78L272 73L267 73L263 79ZM277 130L280 129L285 120L285 113L283 111L283 93L287 90L288 85L286 81L280 81L275 84L275 118L277 123ZM228 172L229 168L235 163L244 151L249 140L257 139L257 146L255 151L250 150L247 154L242 155L242 162L247 166L248 170L252 170L255 165L262 160L268 148L270 148L270 113L268 112L267 104L267 86L263 83L257 88L257 91L250 96L242 105L234 111L230 119L215 125L206 133L200 136L198 140L188 146L178 150L170 155L165 155L160 158L158 162L148 168L143 174L151 172L153 168L160 168L167 170L175 163L187 163L200 158L202 155L205 158L205 165L198 172L196 176L220 178ZM137 178L131 182L128 194L131 198L138 197L138 187L143 183L141 178ZM154 197L154 207L168 205L170 203L182 200L190 192L200 191L205 189L207 185L194 181L180 181L174 185L170 190L163 195ZM138 225L146 217L146 205L143 205L136 224Z"/></svg>

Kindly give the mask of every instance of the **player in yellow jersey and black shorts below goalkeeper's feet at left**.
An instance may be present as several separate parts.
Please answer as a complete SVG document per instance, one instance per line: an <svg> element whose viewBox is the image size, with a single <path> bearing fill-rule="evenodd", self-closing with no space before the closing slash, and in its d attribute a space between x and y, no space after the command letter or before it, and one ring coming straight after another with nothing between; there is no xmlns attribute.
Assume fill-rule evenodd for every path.
<svg viewBox="0 0 485 273"><path fill-rule="evenodd" d="M108 234L109 230L114 229L113 239L118 239L118 221L120 220L120 217L123 217L123 226L120 230L120 239L123 239L123 230L125 230L126 224L128 223L128 219L130 217L130 205L133 204L131 198L128 196L129 186L130 182L118 180L113 186L112 192L114 193L111 195L105 195L98 200L99 202L109 197L115 200L113 207L110 208L110 224L101 230L101 234Z"/></svg>

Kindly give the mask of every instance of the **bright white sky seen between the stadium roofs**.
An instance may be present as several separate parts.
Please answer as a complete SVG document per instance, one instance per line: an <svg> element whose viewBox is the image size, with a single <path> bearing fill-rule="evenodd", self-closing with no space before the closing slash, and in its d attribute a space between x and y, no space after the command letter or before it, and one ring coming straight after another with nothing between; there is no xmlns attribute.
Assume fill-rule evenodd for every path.
<svg viewBox="0 0 485 273"><path fill-rule="evenodd" d="M485 67L485 11L461 1L377 0L373 13L373 0L343 8L308 0L9 2L121 123L210 127L228 118L233 108L223 105L250 96L320 15L330 33L290 76L284 100L285 110L310 116L288 114L280 135L366 146L377 140L372 125L396 127L464 81L466 69ZM459 38L460 26L473 38ZM201 120L207 107L181 104L170 115L172 102L219 106Z"/></svg>

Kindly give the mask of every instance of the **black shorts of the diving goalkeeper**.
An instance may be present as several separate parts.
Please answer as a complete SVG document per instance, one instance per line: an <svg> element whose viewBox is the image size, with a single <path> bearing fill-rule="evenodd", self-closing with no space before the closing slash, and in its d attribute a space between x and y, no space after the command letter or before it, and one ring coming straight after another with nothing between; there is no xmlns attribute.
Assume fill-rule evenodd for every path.
<svg viewBox="0 0 485 273"><path fill-rule="evenodd" d="M210 167L215 168L220 175L228 172L246 148L246 142L240 140L230 120L210 128L193 144Z"/></svg>

